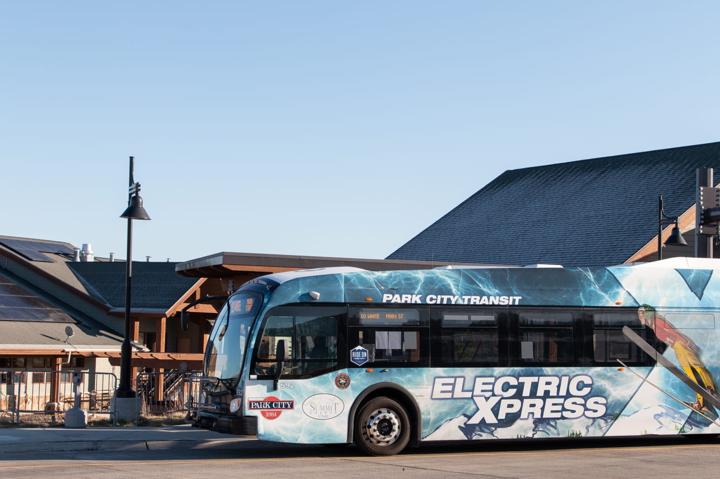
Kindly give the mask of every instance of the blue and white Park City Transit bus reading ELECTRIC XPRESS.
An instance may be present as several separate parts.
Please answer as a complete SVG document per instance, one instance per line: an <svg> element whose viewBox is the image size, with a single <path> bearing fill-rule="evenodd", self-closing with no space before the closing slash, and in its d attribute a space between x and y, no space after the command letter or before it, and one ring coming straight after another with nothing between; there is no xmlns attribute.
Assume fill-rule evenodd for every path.
<svg viewBox="0 0 720 479"><path fill-rule="evenodd" d="M717 270L671 258L265 275L217 315L194 425L369 455L720 434Z"/></svg>

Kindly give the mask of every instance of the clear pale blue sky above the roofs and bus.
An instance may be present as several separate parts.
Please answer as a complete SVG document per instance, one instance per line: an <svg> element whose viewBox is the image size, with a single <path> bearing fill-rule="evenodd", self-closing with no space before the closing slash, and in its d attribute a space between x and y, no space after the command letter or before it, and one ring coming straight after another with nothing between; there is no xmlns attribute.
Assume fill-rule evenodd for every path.
<svg viewBox="0 0 720 479"><path fill-rule="evenodd" d="M720 141L719 24L717 1L4 0L0 234L125 258L133 155L135 260L386 257L504 170Z"/></svg>

